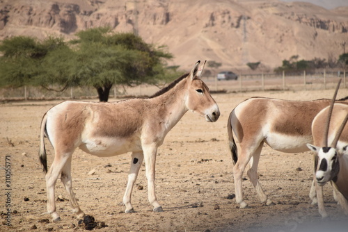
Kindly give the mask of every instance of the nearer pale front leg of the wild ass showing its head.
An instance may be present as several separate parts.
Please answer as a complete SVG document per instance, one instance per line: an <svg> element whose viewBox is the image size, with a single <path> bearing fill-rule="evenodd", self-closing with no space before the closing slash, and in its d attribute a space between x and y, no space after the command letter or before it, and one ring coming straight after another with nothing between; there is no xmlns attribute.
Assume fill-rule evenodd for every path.
<svg viewBox="0 0 348 232"><path fill-rule="evenodd" d="M150 204L154 207L155 212L162 212L163 209L158 203L155 193L155 166L156 166L156 154L157 147L155 145L145 147L144 158L145 158L145 169L146 178L148 179L148 198Z"/></svg>

